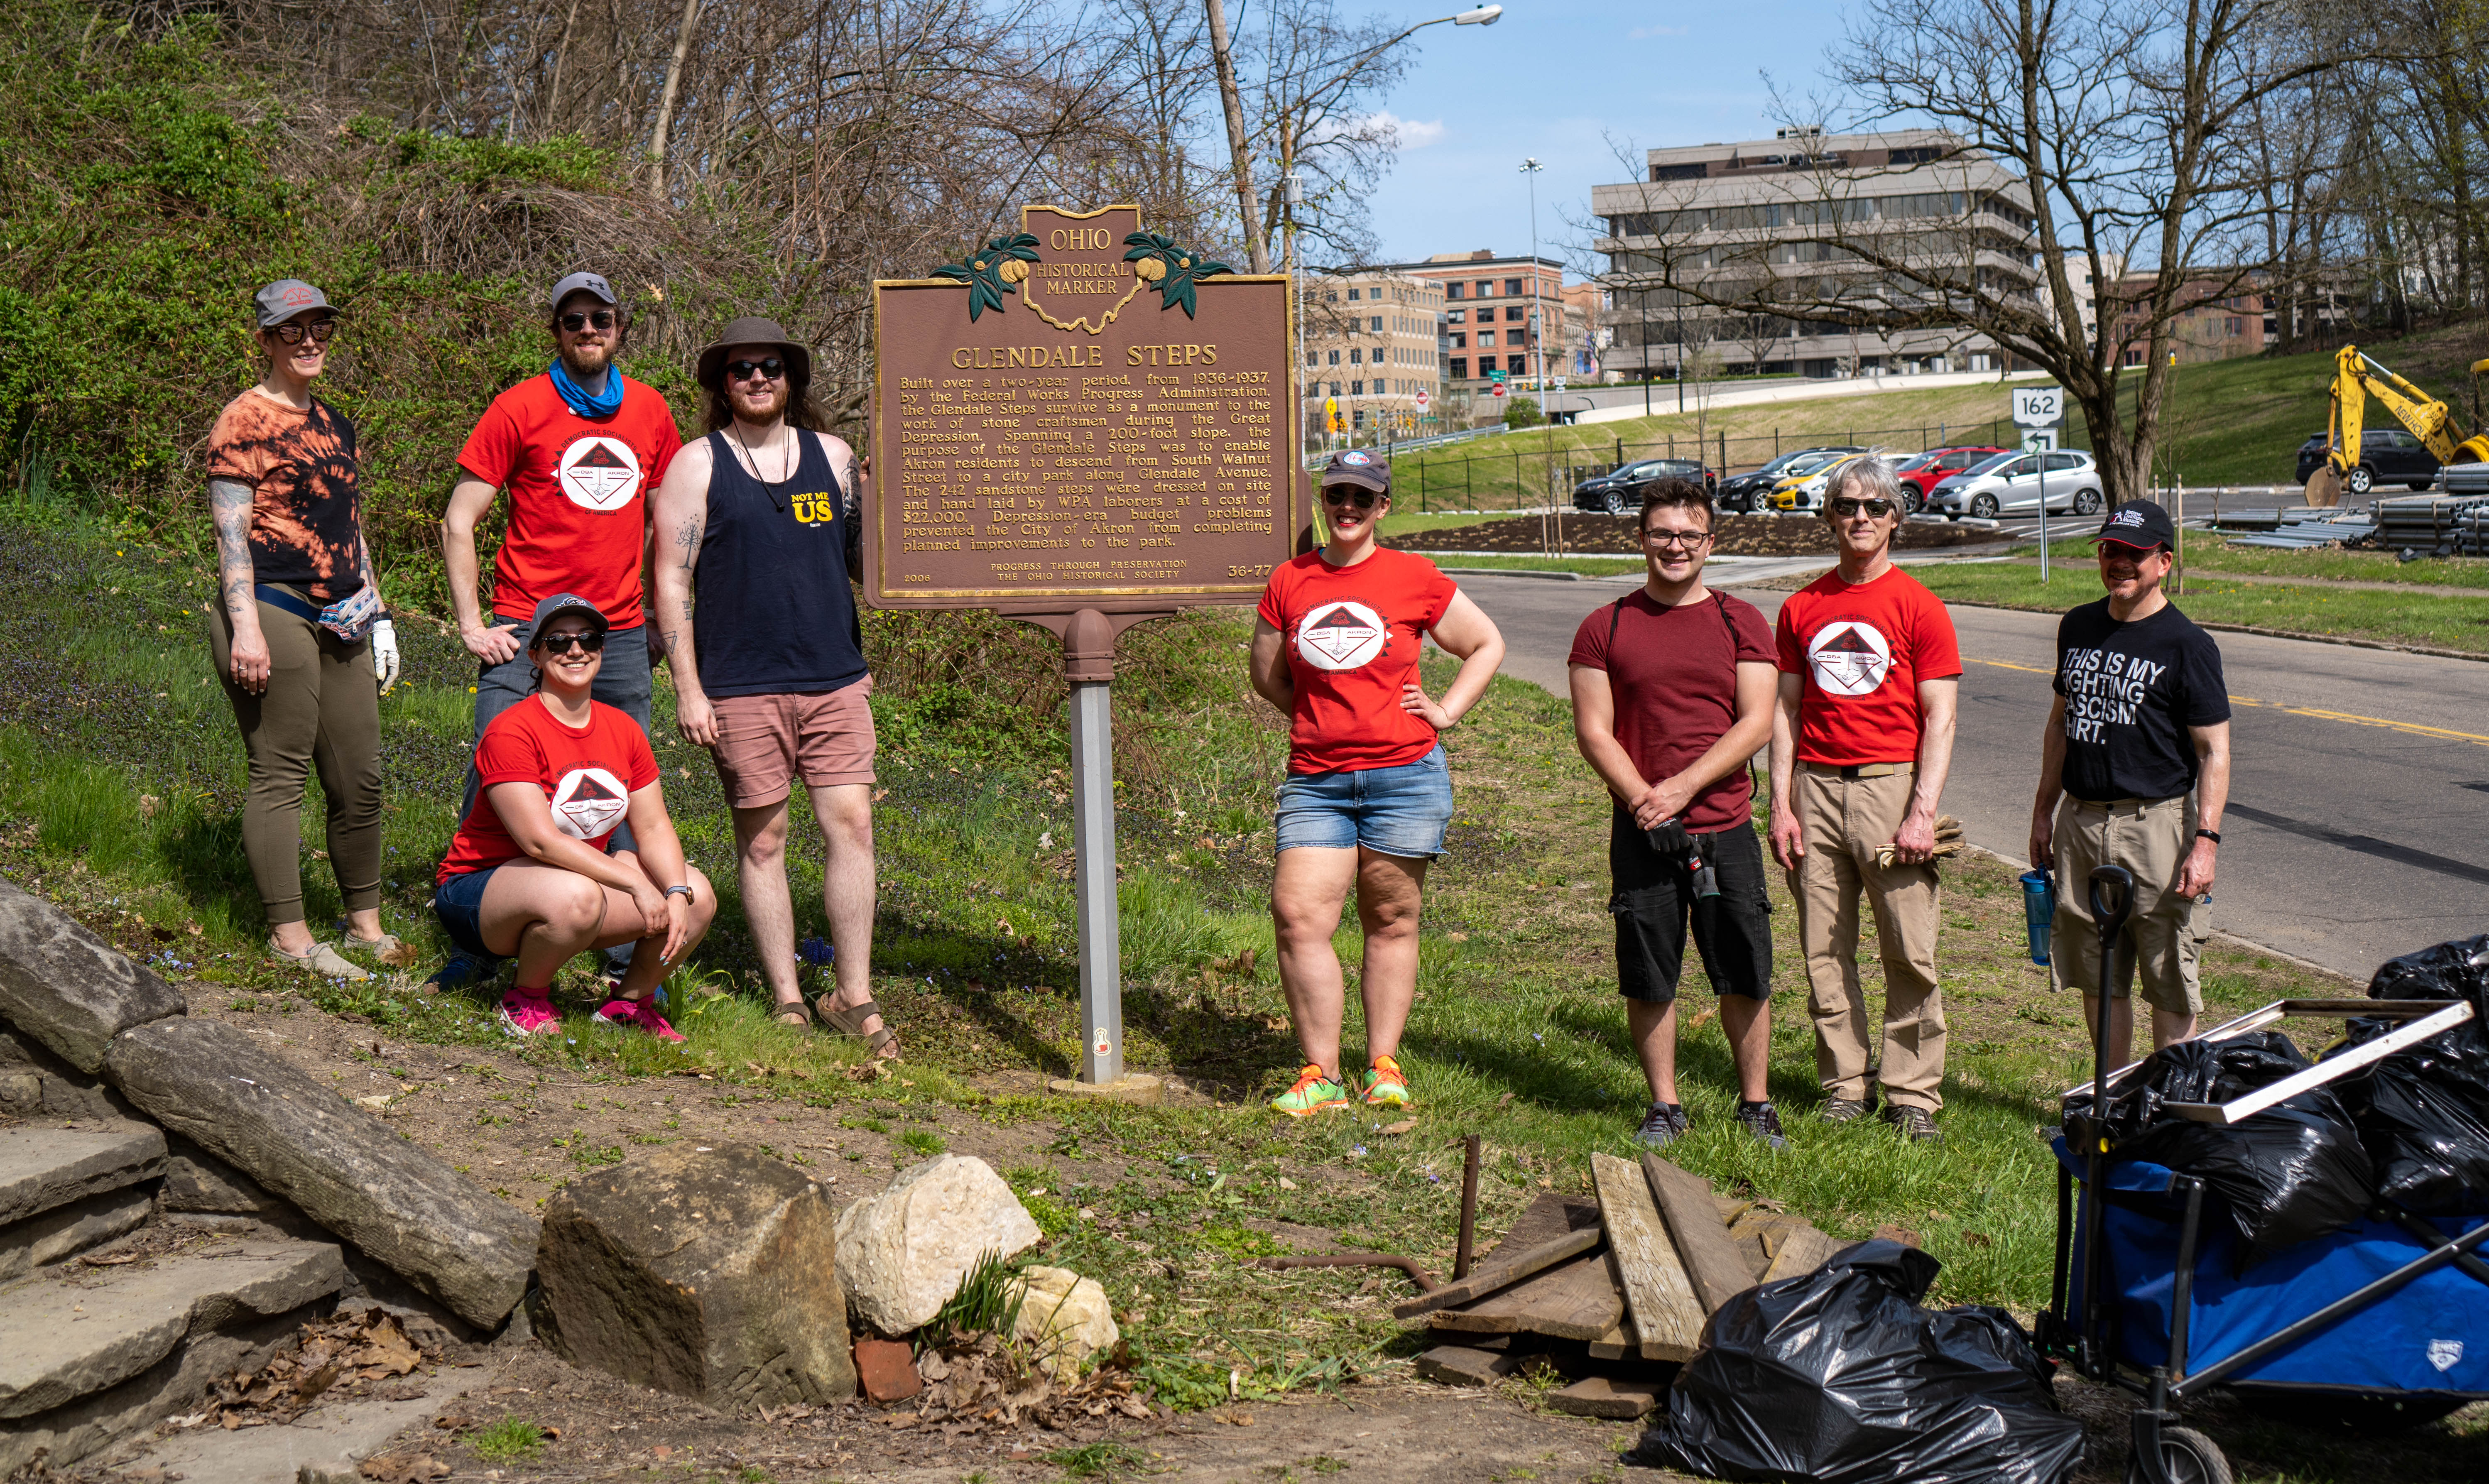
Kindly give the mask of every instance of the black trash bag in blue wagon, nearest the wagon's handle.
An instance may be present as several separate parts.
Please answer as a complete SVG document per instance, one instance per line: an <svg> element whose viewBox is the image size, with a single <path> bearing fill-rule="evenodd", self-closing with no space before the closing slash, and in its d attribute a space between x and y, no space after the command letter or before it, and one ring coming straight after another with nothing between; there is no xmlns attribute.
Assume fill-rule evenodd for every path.
<svg viewBox="0 0 2489 1484"><path fill-rule="evenodd" d="M2180 1041L2150 1053L2136 1086L2108 1101L2113 1158L2150 1160L2195 1175L2223 1198L2238 1228L2238 1265L2355 1225L2375 1193L2375 1165L2332 1088L2310 1088L2233 1125L2190 1123L2163 1103L2228 1103L2305 1071L2310 1061L2280 1031L2228 1041ZM2076 1148L2091 1138L2091 1096L2066 1098Z"/></svg>

